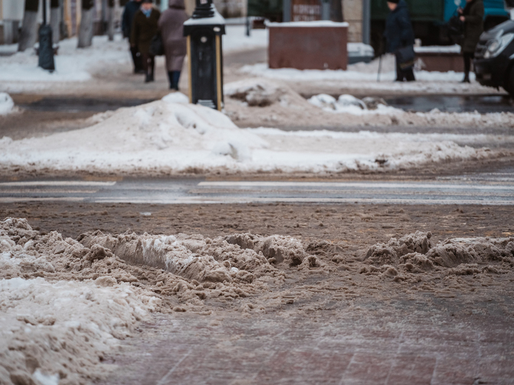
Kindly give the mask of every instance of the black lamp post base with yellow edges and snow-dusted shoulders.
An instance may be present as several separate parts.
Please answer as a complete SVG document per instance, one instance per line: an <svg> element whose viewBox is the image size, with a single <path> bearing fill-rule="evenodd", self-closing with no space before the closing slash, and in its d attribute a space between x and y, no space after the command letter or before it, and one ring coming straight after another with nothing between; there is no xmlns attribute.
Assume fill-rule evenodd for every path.
<svg viewBox="0 0 514 385"><path fill-rule="evenodd" d="M225 19L212 0L196 0L193 17L184 23L189 61L189 102L223 109L221 36Z"/></svg>

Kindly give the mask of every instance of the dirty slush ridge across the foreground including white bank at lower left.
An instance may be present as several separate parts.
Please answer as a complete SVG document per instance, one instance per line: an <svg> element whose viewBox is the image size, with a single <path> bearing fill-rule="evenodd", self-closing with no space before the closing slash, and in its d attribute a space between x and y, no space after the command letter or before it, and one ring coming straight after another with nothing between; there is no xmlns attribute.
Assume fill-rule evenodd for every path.
<svg viewBox="0 0 514 385"><path fill-rule="evenodd" d="M91 382L114 369L103 357L150 312L209 313L205 300L221 299L242 313L260 313L283 301L280 293L265 295L268 285L283 284L293 272L364 274L373 284L393 280L406 290L422 280L420 289L445 293L459 275L480 284L514 264L512 237L434 242L430 232L416 231L353 250L347 242L251 233L93 231L72 239L6 218L0 222L0 382ZM291 291L288 300L309 295Z"/></svg>

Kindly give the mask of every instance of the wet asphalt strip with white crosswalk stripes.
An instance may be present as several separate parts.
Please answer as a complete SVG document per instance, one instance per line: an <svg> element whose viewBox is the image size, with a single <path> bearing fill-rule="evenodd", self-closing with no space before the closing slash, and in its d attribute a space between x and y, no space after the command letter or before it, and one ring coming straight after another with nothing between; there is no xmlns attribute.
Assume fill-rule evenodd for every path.
<svg viewBox="0 0 514 385"><path fill-rule="evenodd" d="M514 170L433 181L31 180L0 183L0 202L159 204L316 202L514 205Z"/></svg>

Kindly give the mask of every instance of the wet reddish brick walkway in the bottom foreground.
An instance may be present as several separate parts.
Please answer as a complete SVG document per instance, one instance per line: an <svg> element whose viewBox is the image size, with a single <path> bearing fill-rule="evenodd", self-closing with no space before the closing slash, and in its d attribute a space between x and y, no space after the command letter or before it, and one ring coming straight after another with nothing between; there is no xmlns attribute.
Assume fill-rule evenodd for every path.
<svg viewBox="0 0 514 385"><path fill-rule="evenodd" d="M453 299L158 315L109 357L120 368L103 384L514 384L514 324L495 303L473 309Z"/></svg>

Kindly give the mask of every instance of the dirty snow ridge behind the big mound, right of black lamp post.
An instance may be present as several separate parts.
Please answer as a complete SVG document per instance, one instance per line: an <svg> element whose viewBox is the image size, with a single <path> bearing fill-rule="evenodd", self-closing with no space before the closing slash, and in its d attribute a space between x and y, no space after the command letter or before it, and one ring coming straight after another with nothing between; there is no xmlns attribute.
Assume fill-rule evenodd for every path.
<svg viewBox="0 0 514 385"><path fill-rule="evenodd" d="M309 125L312 127L342 125L514 127L514 114L511 112L479 114L477 112L440 112L437 109L428 113L407 112L388 106L382 98L365 97L360 100L349 94L341 95L338 99L331 95L319 94L307 101L286 83L263 78L229 83L227 96L229 96L225 99L227 114L234 121L238 121L240 126L259 127L274 124L279 127L282 125L287 127ZM254 101L265 101L265 103ZM323 110L322 113L320 108Z"/></svg>

